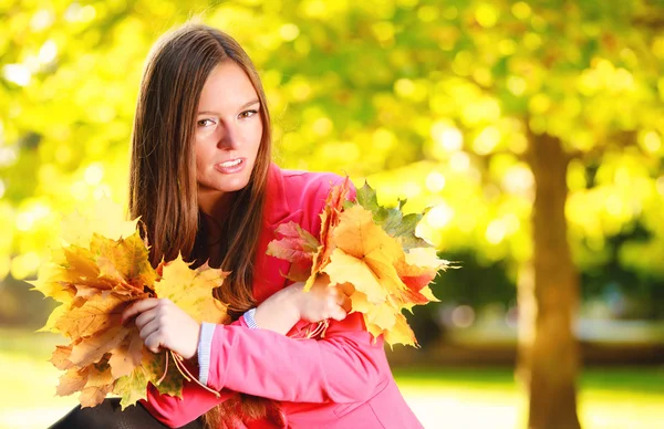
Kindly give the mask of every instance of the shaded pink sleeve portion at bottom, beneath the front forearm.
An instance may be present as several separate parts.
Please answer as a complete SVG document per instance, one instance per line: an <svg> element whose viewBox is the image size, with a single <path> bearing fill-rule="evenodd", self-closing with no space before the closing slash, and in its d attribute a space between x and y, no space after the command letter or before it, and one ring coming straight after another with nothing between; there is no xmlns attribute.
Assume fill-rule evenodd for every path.
<svg viewBox="0 0 664 429"><path fill-rule="evenodd" d="M238 318L231 324L240 329L247 328L243 317ZM230 325L229 325L230 326ZM197 374L197 368L188 368L191 374ZM160 395L156 387L148 384L147 399L141 400L141 404L149 414L168 426L169 428L179 428L190 421L196 420L217 405L230 399L235 391L219 389L220 396L217 397L193 381L184 381L183 397L176 398L169 395Z"/></svg>

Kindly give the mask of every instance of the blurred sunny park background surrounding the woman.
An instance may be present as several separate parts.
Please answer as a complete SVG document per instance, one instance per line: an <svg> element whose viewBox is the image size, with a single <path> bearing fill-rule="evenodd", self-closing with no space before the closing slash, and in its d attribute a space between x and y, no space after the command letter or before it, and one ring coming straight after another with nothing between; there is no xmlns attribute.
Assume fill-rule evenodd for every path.
<svg viewBox="0 0 664 429"><path fill-rule="evenodd" d="M0 428L76 404L23 280L62 214L126 201L144 60L194 14L255 61L282 167L430 208L461 269L388 350L427 428L662 427L662 1L2 0Z"/></svg>

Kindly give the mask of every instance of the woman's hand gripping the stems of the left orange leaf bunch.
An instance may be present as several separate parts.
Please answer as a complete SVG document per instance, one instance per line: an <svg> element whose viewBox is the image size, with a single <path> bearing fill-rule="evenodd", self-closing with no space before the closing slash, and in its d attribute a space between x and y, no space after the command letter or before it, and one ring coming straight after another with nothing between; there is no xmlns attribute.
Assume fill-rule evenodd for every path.
<svg viewBox="0 0 664 429"><path fill-rule="evenodd" d="M136 301L124 311L122 321L125 323L136 315L136 327L151 352L167 348L185 359L196 356L200 325L170 300Z"/></svg>

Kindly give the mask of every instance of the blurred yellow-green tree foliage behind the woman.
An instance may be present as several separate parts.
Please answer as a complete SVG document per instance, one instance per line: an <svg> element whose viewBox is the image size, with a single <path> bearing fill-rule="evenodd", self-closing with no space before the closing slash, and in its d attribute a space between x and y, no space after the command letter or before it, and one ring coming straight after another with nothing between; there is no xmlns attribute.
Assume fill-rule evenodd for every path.
<svg viewBox="0 0 664 429"><path fill-rule="evenodd" d="M257 64L282 166L433 206L421 232L444 255L512 281L531 255L522 155L561 138L587 295L664 301L662 0L0 1L0 279L35 272L61 213L125 200L144 60L194 13Z"/></svg>

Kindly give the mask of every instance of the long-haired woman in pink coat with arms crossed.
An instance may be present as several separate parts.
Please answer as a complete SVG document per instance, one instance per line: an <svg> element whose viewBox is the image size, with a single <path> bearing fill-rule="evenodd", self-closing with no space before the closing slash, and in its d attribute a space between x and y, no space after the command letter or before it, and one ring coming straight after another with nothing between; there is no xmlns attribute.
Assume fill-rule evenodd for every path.
<svg viewBox="0 0 664 429"><path fill-rule="evenodd" d="M138 100L131 212L147 227L154 264L181 251L231 271L218 299L238 318L199 326L164 300L127 308L124 318L135 317L146 347L197 362L199 381L220 393L188 383L179 399L151 387L143 405L169 427L204 414L219 427L422 427L394 383L383 339L372 338L361 314L344 317L347 297L323 280L313 296L301 284L284 287L288 262L266 255L281 223L318 236L325 198L341 179L281 170L270 146L264 93L241 46L200 24L163 36ZM324 338L305 337L309 322L329 317Z"/></svg>

